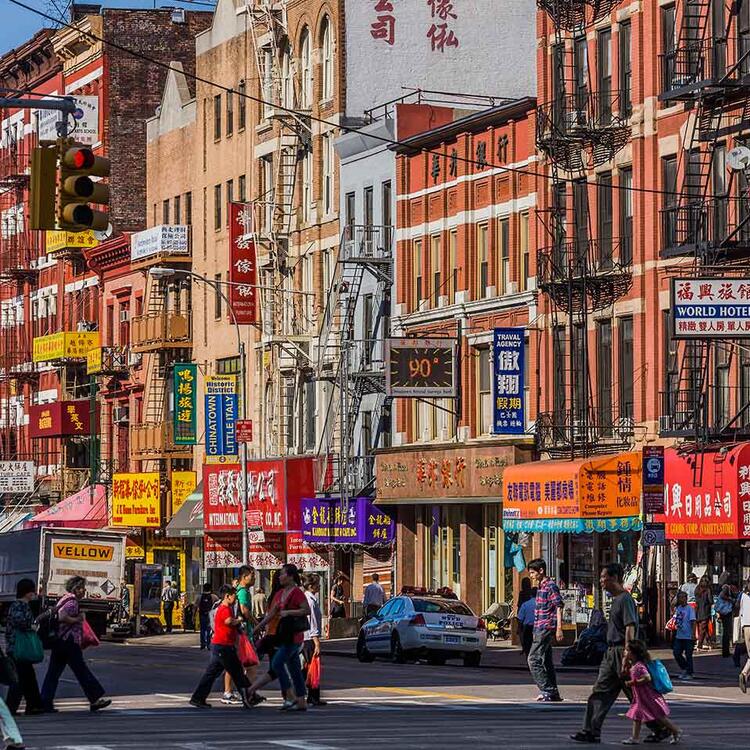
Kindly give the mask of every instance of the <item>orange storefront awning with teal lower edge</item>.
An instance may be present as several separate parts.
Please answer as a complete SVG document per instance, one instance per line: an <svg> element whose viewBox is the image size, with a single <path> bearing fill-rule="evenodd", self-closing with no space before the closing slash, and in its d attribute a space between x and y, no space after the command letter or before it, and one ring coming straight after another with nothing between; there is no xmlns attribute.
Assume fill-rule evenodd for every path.
<svg viewBox="0 0 750 750"><path fill-rule="evenodd" d="M639 453L533 461L505 469L505 531L638 530L640 512Z"/></svg>

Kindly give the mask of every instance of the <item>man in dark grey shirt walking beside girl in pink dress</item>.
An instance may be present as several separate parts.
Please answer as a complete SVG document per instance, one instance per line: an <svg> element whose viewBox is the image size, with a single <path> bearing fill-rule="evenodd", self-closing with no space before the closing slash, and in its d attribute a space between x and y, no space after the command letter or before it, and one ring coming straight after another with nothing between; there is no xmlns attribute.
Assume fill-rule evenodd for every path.
<svg viewBox="0 0 750 750"><path fill-rule="evenodd" d="M625 648L638 636L638 610L635 601L622 585L624 570L619 563L610 563L602 568L599 583L612 597L607 624L607 651L599 665L599 674L586 703L583 729L570 735L575 742L597 744L601 742L602 725L609 710L622 690L628 699L630 687L622 674ZM658 722L647 721L651 734L644 742L661 742L669 730Z"/></svg>

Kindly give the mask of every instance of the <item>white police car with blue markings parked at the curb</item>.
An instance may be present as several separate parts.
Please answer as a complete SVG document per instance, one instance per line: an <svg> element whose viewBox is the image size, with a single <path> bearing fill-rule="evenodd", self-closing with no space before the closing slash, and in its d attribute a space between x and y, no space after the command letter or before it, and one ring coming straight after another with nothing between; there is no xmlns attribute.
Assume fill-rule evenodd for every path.
<svg viewBox="0 0 750 750"><path fill-rule="evenodd" d="M435 595L401 595L362 625L357 657L368 662L376 656L390 656L396 663L422 657L430 664L462 658L467 667L478 667L486 646L484 620L463 602Z"/></svg>

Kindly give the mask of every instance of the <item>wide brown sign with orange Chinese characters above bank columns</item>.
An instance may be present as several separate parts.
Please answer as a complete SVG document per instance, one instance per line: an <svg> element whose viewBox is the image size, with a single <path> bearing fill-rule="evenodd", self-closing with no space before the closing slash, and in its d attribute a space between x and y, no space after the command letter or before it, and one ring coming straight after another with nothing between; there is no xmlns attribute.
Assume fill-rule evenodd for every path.
<svg viewBox="0 0 750 750"><path fill-rule="evenodd" d="M499 498L512 445L392 451L375 457L378 501Z"/></svg>

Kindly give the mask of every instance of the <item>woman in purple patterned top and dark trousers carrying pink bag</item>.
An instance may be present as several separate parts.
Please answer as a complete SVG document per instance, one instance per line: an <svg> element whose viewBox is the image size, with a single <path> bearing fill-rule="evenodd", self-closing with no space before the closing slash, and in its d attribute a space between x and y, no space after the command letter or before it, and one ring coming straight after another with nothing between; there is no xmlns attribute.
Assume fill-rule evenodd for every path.
<svg viewBox="0 0 750 750"><path fill-rule="evenodd" d="M86 579L82 576L69 578L65 583L65 591L67 593L55 606L59 627L42 684L42 706L46 713L57 712L54 707L57 686L65 667L70 667L89 700L91 711L100 711L112 701L104 697L104 688L88 668L81 649L86 615L81 612L79 602L86 596Z"/></svg>

